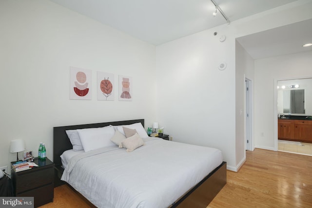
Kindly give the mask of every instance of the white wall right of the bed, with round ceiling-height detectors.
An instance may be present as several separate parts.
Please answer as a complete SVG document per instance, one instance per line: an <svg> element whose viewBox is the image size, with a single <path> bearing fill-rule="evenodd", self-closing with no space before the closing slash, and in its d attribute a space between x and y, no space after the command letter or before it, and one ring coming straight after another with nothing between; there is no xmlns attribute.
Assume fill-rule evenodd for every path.
<svg viewBox="0 0 312 208"><path fill-rule="evenodd" d="M311 1L299 0L157 46L156 112L165 132L175 141L219 148L228 169L238 170L245 147L236 97L244 97L244 91L235 89L236 81L243 81L243 73L235 77L235 38L311 19L311 11ZM219 42L220 35L227 39ZM223 61L228 67L219 71Z"/></svg>

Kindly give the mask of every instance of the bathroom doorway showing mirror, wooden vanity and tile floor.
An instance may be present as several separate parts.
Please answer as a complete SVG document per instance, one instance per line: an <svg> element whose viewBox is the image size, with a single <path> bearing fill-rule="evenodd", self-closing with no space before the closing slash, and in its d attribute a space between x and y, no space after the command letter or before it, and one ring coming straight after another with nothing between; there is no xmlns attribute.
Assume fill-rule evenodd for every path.
<svg viewBox="0 0 312 208"><path fill-rule="evenodd" d="M311 103L311 90L312 90L312 77L298 77L291 79L278 79L276 81L275 89L275 110L279 115L276 119L275 126L275 144L277 147L277 151L286 151L297 154L305 154L312 155L312 143L307 141L307 139L311 138L310 132L307 134L299 134L298 124L294 124L291 122L292 119L307 119L309 120L312 115L312 108L309 103ZM294 84L295 83L295 84ZM295 87L292 87L295 86ZM300 98L300 103L304 105L300 108L303 108L301 111L297 111L297 108L292 108L295 105L296 98L291 97L292 92L302 91L305 95L303 98ZM309 93L310 92L310 93ZM290 95L289 95L290 94ZM298 100L297 100L298 101ZM306 103L308 105L306 105ZM283 118L285 120L283 120ZM289 122L289 124L287 124ZM307 121L310 122L310 121ZM286 123L286 124L284 124ZM286 125L286 126L285 126ZM289 128L289 132L284 132L284 128ZM309 127L305 128L305 130L309 129ZM297 132L297 133L296 133ZM285 135L285 133L287 133ZM298 137L299 136L299 137ZM300 137L301 136L301 137ZM284 139L285 138L285 139ZM293 139L293 140L292 140ZM303 140L301 140L303 139Z"/></svg>

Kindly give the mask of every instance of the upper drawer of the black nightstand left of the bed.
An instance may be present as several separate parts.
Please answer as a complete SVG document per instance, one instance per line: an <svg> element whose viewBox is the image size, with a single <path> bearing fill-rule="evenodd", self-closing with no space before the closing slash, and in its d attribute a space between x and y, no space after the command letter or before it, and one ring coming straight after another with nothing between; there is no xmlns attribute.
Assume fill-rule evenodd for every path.
<svg viewBox="0 0 312 208"><path fill-rule="evenodd" d="M36 168L34 168L36 169ZM24 173L24 174L23 174ZM54 180L54 168L40 169L38 171L19 172L19 177L16 178L16 193L20 195L21 192L35 189L40 186L52 184Z"/></svg>

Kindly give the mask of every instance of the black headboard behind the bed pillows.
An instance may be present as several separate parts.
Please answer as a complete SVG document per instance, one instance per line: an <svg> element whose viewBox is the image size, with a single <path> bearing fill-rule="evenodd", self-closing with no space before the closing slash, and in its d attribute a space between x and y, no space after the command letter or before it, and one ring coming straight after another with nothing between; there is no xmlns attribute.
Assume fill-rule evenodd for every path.
<svg viewBox="0 0 312 208"><path fill-rule="evenodd" d="M144 119L53 127L53 162L55 163L56 166L61 166L62 163L61 163L59 156L64 151L73 149L72 143L70 142L65 132L66 130L98 128L98 127L104 127L108 125L113 125L113 126L129 125L129 124L134 124L138 122L140 122L142 126L144 127Z"/></svg>

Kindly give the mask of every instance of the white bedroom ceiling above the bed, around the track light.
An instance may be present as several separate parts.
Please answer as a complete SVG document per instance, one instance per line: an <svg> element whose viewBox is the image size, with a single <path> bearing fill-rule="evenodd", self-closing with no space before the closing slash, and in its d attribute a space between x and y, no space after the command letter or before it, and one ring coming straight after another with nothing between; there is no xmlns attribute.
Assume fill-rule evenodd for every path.
<svg viewBox="0 0 312 208"><path fill-rule="evenodd" d="M135 38L159 45L227 24L211 0L51 0L110 25ZM230 21L296 0L215 0Z"/></svg>

